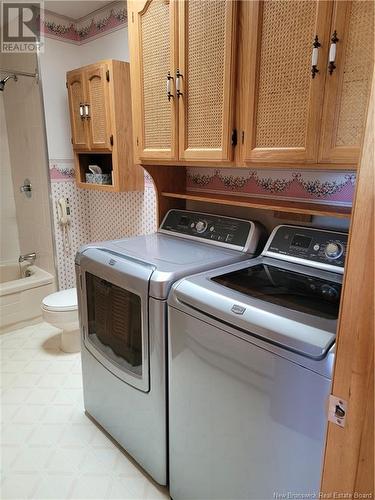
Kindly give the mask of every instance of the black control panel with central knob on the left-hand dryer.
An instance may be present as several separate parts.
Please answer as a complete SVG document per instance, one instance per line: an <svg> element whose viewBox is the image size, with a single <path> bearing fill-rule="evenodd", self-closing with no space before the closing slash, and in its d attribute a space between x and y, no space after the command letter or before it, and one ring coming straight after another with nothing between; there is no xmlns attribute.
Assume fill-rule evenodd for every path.
<svg viewBox="0 0 375 500"><path fill-rule="evenodd" d="M174 209L167 213L159 229L245 251L253 230L254 223L244 219Z"/></svg>

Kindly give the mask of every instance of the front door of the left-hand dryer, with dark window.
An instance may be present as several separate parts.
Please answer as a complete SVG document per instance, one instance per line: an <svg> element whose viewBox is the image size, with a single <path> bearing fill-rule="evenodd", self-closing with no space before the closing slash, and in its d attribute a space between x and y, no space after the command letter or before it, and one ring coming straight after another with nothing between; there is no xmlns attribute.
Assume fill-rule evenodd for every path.
<svg viewBox="0 0 375 500"><path fill-rule="evenodd" d="M83 342L114 375L149 391L148 283L153 267L89 249L78 271Z"/></svg>

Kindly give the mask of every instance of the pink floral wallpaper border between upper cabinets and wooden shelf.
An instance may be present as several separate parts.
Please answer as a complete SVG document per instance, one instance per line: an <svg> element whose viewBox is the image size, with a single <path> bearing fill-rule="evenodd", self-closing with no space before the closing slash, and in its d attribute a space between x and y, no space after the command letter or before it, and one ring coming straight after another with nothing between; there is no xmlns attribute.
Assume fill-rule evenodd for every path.
<svg viewBox="0 0 375 500"><path fill-rule="evenodd" d="M355 172L188 168L187 189L351 206Z"/></svg>

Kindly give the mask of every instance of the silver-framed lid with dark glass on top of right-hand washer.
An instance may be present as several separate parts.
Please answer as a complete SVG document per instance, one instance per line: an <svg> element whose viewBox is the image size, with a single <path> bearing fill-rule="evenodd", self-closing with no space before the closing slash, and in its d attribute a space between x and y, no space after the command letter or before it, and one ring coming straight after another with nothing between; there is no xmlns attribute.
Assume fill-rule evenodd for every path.
<svg viewBox="0 0 375 500"><path fill-rule="evenodd" d="M315 315L307 306L303 311L292 309L281 302L267 301L259 294L247 295L242 291L229 288L214 278L228 275L242 269L259 264L265 266L279 265L287 271L297 272L309 276L312 283L323 280L334 280L333 285L341 281L340 274L315 270L298 264L277 261L276 259L259 257L251 261L232 264L225 269L213 269L206 273L190 276L177 282L172 293L169 294L168 304L177 309L187 311L194 316L196 311L209 318L219 320L224 328L238 328L246 333L249 342L256 337L269 344L274 344L288 351L306 356L311 359L323 359L331 349L336 338L337 318L333 314ZM270 275L271 276L271 275ZM276 277L273 276L275 280ZM251 276L245 277L252 281ZM251 283L249 283L249 286ZM268 282L268 288L271 288ZM285 286L278 287L280 294L285 293ZM294 300L300 303L301 290L294 284Z"/></svg>

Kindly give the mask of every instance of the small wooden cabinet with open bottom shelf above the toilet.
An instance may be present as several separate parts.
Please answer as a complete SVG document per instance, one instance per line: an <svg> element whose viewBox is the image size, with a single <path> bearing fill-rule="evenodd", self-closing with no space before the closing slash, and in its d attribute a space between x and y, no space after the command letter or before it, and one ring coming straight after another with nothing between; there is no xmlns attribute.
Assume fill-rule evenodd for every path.
<svg viewBox="0 0 375 500"><path fill-rule="evenodd" d="M142 191L143 169L134 164L129 63L100 61L66 76L76 180L102 191ZM89 165L111 184L86 181Z"/></svg>

